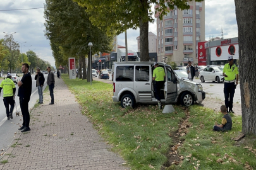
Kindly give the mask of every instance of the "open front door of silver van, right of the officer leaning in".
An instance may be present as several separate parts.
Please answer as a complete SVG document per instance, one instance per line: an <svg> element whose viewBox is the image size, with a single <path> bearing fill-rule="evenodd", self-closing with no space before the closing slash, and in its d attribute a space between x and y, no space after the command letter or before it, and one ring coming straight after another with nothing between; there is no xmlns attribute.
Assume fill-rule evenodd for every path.
<svg viewBox="0 0 256 170"><path fill-rule="evenodd" d="M177 79L171 67L166 66L166 82L164 91L166 94L166 103L173 103L177 96Z"/></svg>

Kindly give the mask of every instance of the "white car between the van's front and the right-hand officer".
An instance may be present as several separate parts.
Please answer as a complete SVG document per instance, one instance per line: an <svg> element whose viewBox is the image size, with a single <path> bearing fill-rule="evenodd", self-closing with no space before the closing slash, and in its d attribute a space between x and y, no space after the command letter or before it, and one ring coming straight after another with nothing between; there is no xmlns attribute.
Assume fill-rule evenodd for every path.
<svg viewBox="0 0 256 170"><path fill-rule="evenodd" d="M224 76L222 76L222 71L218 67L206 67L203 71L199 72L201 82L205 81L217 81L223 82Z"/></svg>

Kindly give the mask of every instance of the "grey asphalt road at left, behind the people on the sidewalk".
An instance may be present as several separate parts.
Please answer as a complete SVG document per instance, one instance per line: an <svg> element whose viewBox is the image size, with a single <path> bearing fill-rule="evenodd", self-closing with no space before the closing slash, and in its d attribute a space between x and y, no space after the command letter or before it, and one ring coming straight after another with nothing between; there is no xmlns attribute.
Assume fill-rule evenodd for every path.
<svg viewBox="0 0 256 170"><path fill-rule="evenodd" d="M44 77L47 79L48 74L44 74ZM21 77L19 77L21 79ZM57 77L56 77L57 78ZM16 85L16 107L17 110L20 111L20 102L19 98L17 96L18 94L18 85ZM45 81L44 88L46 88L47 84ZM35 103L37 102L37 99L39 99L39 94L37 93L37 88L35 87L35 74L32 74L32 94L30 98L30 102L28 103L28 108L31 109L34 107ZM17 124L22 124L22 117L21 113L20 116L15 116L16 113L16 107L13 111L13 120L7 120L6 117L6 111L4 107L3 102L3 90L1 91L1 97L0 97L0 149L6 150L8 148L8 145L11 144L11 141L13 140L13 136L15 135L15 132L18 132Z"/></svg>

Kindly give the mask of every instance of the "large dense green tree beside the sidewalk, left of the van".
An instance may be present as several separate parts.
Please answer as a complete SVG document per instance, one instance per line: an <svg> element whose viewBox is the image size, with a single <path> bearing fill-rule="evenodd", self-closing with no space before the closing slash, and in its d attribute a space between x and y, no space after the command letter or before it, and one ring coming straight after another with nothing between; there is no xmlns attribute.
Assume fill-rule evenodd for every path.
<svg viewBox="0 0 256 170"><path fill-rule="evenodd" d="M68 63L68 57L82 57L83 74L86 75L85 57L89 55L88 43L92 42L92 54L109 52L112 49L113 35L106 34L92 25L85 7L71 0L46 0L46 37L51 42L52 54L61 65ZM88 63L92 63L88 57ZM88 75L91 74L88 69ZM86 77L83 76L83 79ZM87 79L90 81L90 79Z"/></svg>

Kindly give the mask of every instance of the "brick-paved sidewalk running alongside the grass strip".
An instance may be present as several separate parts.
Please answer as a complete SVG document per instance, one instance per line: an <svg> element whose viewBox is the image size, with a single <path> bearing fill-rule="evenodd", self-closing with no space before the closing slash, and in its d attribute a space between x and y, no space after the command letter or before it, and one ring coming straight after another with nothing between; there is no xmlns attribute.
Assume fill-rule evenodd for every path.
<svg viewBox="0 0 256 170"><path fill-rule="evenodd" d="M48 92L49 93L49 92ZM123 159L98 135L87 116L80 114L75 96L56 78L55 105L44 104L30 114L30 132L18 132L4 154L0 169L128 169ZM17 129L19 125L16 125Z"/></svg>

